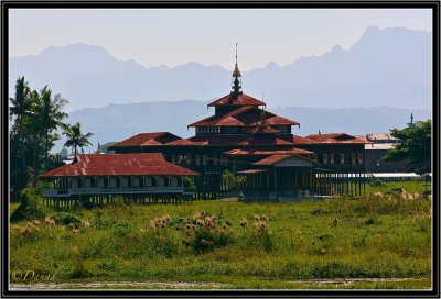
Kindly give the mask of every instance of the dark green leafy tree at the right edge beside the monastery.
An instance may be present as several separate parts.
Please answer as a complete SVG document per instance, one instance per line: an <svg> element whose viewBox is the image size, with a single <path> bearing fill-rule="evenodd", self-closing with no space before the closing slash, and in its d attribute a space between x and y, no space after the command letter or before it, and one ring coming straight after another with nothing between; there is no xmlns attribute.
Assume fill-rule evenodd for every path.
<svg viewBox="0 0 441 299"><path fill-rule="evenodd" d="M418 121L413 128L390 130L394 137L404 143L391 148L385 157L386 162L408 160L410 171L419 175L431 171L432 121Z"/></svg>

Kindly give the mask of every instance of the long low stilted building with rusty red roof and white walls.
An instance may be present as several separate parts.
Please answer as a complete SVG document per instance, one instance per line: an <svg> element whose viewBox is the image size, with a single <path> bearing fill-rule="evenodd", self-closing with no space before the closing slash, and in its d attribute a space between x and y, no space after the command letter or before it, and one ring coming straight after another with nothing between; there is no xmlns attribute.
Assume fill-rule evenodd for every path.
<svg viewBox="0 0 441 299"><path fill-rule="evenodd" d="M193 196L184 186L184 177L198 173L164 159L160 153L79 154L72 164L42 175L54 182L44 190L46 198L69 198L108 195L178 195Z"/></svg>

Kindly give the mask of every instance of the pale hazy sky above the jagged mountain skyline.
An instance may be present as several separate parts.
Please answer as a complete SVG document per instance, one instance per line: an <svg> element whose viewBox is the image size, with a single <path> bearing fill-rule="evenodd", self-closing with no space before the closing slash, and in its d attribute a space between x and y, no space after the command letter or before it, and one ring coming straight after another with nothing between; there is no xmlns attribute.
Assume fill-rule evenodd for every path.
<svg viewBox="0 0 441 299"><path fill-rule="evenodd" d="M432 29L427 9L14 9L9 20L10 57L85 43L146 67L230 69L237 42L241 70L348 49L372 25Z"/></svg>

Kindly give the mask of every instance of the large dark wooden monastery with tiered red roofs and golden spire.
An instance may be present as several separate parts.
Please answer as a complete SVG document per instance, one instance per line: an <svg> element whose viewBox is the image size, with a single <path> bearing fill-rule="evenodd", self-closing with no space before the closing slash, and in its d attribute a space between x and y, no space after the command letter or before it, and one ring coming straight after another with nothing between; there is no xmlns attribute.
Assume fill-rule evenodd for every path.
<svg viewBox="0 0 441 299"><path fill-rule="evenodd" d="M233 71L228 95L213 101L214 115L189 124L195 135L141 133L114 144L118 154L162 153L166 160L201 174L198 197L216 197L228 188L222 174L247 176L248 198L353 195L363 192L365 139L344 133L292 134L299 122L265 110L266 103L241 91L241 75Z"/></svg>

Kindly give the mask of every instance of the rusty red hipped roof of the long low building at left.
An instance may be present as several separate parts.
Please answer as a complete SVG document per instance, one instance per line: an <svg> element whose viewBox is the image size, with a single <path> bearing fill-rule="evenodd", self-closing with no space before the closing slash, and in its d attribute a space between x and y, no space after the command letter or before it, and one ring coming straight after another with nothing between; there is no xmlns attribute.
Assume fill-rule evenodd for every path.
<svg viewBox="0 0 441 299"><path fill-rule="evenodd" d="M76 156L76 162L50 170L42 177L130 175L197 176L198 174L166 162L160 153L80 154Z"/></svg>

